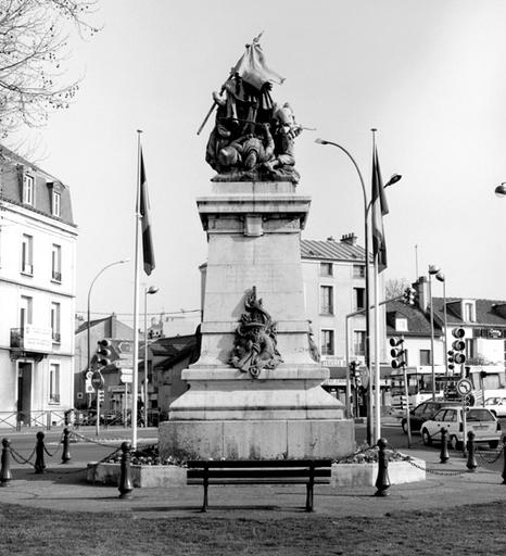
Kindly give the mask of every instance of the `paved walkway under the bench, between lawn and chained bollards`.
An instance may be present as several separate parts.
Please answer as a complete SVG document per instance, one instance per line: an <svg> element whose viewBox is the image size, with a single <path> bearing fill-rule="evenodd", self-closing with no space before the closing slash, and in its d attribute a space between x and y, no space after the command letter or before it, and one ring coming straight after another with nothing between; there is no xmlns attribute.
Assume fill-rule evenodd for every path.
<svg viewBox="0 0 506 556"><path fill-rule="evenodd" d="M479 467L467 472L466 459L453 456L439 463L439 453L416 448L403 450L426 459L427 480L392 485L389 496L375 496L375 488L340 488L318 485L315 489L315 513L327 517L380 517L393 511L444 509L465 504L482 504L506 500L506 485L497 471ZM501 456L502 458L504 455ZM301 485L210 486L210 511L200 514L201 486L135 489L130 500L119 500L115 486L97 486L85 482L87 462L51 465L43 475L31 467L13 464L14 479L0 489L0 504L72 511L128 513L142 518L189 516L227 517L258 520L293 517L303 513L305 488ZM441 475L439 475L441 473Z"/></svg>

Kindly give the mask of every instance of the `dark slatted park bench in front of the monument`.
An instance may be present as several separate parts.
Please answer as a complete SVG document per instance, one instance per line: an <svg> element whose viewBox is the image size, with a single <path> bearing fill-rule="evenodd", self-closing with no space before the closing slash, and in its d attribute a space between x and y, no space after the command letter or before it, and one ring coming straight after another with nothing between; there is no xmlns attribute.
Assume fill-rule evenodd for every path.
<svg viewBox="0 0 506 556"><path fill-rule="evenodd" d="M313 486L329 484L331 459L203 459L187 462L187 484L305 484L306 511L313 511Z"/></svg>

